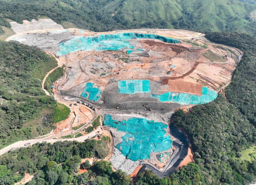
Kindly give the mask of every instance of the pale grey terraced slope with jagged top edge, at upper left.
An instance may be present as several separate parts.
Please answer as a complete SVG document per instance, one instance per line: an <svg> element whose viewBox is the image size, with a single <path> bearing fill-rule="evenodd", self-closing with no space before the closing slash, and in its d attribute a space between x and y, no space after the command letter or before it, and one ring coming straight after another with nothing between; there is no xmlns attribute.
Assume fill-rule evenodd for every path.
<svg viewBox="0 0 256 185"><path fill-rule="evenodd" d="M46 29L64 29L61 25L55 23L52 19L38 19L38 21L32 19L31 22L24 20L23 24L16 22L10 22L10 24L11 29L17 34Z"/></svg>

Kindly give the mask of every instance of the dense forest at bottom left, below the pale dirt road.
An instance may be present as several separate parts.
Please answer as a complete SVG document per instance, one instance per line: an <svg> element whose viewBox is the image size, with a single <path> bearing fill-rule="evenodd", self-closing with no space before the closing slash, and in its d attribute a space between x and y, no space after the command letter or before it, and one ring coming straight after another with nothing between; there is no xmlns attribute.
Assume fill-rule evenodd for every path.
<svg viewBox="0 0 256 185"><path fill-rule="evenodd" d="M81 158L94 156L96 147L96 140L92 139L53 144L43 142L11 151L0 156L0 184L13 184L25 173L31 173L34 178L27 185L82 185L89 182L92 185L128 185L130 177L120 170L114 172L107 161L95 161L92 166L88 160L81 163ZM100 150L106 147L102 145ZM79 174L79 168L88 172Z"/></svg>

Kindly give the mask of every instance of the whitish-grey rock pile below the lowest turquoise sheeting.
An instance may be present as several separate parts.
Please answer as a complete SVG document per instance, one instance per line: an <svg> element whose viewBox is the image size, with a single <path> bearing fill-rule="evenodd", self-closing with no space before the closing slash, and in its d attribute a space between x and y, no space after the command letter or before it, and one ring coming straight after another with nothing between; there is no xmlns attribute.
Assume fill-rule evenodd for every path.
<svg viewBox="0 0 256 185"><path fill-rule="evenodd" d="M128 175L133 173L136 167L139 165L139 161L132 161L130 159L126 159L122 153L114 147L112 157L110 159L112 166L117 170L122 170L126 172Z"/></svg>

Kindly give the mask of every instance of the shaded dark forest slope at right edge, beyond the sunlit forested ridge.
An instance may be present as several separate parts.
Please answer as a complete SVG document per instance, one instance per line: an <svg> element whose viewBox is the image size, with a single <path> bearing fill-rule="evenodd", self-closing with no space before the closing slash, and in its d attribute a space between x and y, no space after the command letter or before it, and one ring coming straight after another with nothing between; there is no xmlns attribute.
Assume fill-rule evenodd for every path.
<svg viewBox="0 0 256 185"><path fill-rule="evenodd" d="M213 42L240 48L244 52L225 92L229 102L256 126L256 38L247 34L226 32L209 33L206 37Z"/></svg>

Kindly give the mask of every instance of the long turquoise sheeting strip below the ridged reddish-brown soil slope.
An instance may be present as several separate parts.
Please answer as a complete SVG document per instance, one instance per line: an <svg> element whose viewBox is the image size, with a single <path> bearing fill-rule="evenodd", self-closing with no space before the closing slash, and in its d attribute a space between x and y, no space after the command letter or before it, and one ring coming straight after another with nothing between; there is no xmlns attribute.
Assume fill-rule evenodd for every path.
<svg viewBox="0 0 256 185"><path fill-rule="evenodd" d="M160 102L174 102L179 104L202 104L208 103L217 98L217 93L208 89L202 88L202 95L197 96L188 93L167 92L162 95L152 94L151 98L157 98Z"/></svg>

